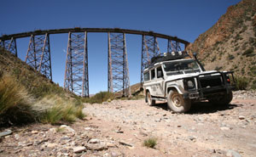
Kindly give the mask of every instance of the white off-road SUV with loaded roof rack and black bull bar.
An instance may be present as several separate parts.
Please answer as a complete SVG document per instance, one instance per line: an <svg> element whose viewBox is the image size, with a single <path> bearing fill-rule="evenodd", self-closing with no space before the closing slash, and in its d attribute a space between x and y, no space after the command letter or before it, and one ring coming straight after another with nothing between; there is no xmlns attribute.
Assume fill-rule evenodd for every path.
<svg viewBox="0 0 256 157"><path fill-rule="evenodd" d="M176 113L186 112L193 102L206 99L213 104L230 104L235 83L233 71L206 71L195 54L194 57L186 52L154 57L143 71L146 103L154 105L155 100L167 100L168 107Z"/></svg>

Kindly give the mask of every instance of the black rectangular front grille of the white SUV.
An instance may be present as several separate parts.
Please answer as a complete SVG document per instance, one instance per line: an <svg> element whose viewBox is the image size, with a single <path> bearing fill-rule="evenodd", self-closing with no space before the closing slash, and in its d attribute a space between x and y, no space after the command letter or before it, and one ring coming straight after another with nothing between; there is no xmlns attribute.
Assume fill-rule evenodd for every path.
<svg viewBox="0 0 256 157"><path fill-rule="evenodd" d="M223 84L221 76L202 77L200 83L202 88L218 87Z"/></svg>

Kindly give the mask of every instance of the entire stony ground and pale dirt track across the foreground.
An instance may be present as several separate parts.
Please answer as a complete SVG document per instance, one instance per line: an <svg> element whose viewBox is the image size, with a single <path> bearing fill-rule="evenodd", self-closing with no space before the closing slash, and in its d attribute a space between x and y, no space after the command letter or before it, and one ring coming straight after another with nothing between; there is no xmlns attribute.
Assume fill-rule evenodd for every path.
<svg viewBox="0 0 256 157"><path fill-rule="evenodd" d="M11 134L0 138L0 156L255 156L255 110L256 94L247 91L228 108L203 102L187 114L143 99L84 104L88 116L73 125L2 129ZM149 137L154 149L143 146Z"/></svg>

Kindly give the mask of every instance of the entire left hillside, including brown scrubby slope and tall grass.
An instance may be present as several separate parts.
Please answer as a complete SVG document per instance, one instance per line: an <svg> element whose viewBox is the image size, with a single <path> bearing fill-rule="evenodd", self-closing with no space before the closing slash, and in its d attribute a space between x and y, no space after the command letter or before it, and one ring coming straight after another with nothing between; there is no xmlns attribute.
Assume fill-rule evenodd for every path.
<svg viewBox="0 0 256 157"><path fill-rule="evenodd" d="M83 118L81 98L0 48L0 128L33 121L73 122Z"/></svg>

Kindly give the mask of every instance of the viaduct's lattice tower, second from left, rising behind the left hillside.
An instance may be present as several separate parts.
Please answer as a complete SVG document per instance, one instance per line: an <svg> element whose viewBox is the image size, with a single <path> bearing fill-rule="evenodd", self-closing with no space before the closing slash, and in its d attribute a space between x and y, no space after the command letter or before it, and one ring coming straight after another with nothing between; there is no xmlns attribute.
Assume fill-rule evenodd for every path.
<svg viewBox="0 0 256 157"><path fill-rule="evenodd" d="M31 35L25 62L52 80L48 33L41 36Z"/></svg>

